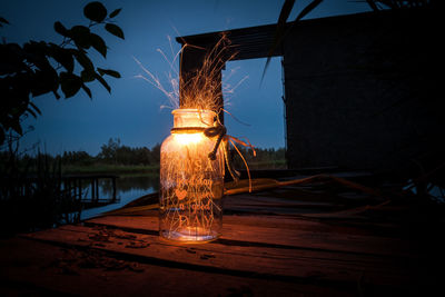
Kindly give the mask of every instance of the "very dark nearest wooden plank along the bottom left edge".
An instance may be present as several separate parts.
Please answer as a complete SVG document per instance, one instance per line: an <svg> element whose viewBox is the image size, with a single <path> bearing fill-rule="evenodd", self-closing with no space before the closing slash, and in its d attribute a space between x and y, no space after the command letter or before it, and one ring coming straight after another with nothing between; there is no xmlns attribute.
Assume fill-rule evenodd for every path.
<svg viewBox="0 0 445 297"><path fill-rule="evenodd" d="M162 267L96 249L0 239L0 296L357 296L327 287Z"/></svg>

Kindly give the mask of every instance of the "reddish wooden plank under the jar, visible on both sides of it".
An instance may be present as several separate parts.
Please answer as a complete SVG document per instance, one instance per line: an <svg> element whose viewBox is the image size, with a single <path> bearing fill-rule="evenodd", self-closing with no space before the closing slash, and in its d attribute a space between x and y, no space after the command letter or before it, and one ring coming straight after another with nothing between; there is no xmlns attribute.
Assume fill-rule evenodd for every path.
<svg viewBox="0 0 445 297"><path fill-rule="evenodd" d="M243 221L249 220L249 225ZM256 224L255 224L256 222ZM95 218L87 224L126 228L127 230L144 232L149 230L156 235L158 230L157 217L123 217L108 216ZM376 237L346 232L333 232L320 224L316 231L305 230L300 225L308 225L305 220L271 219L269 217L231 217L226 216L222 224L221 240L231 245L261 244L281 246L283 248L317 249L326 251L368 254L395 257L412 257L409 245L399 238ZM314 225L314 224L313 224ZM267 226L267 227L266 227ZM323 230L325 227L325 230Z"/></svg>

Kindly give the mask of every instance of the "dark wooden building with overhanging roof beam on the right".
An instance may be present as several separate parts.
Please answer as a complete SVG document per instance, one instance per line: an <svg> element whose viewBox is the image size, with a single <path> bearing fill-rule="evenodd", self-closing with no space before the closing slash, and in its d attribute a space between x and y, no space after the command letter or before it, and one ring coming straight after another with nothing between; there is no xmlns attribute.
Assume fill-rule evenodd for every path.
<svg viewBox="0 0 445 297"><path fill-rule="evenodd" d="M444 149L438 22L438 12L412 9L289 23L273 55L283 57L288 167L428 167L428 158ZM265 58L275 30L260 26L177 41L209 50L226 34L227 57ZM205 55L185 49L184 77L194 75Z"/></svg>

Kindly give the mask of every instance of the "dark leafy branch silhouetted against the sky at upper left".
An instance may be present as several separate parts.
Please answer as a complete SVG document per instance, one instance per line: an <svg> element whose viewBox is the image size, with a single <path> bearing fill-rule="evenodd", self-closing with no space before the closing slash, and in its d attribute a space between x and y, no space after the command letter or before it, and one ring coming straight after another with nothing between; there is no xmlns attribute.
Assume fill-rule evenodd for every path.
<svg viewBox="0 0 445 297"><path fill-rule="evenodd" d="M112 20L120 10L116 9L107 17L103 4L97 1L88 3L83 8L88 26L78 24L67 29L60 21L55 22L55 31L62 37L59 44L33 40L23 46L0 44L0 145L8 131L23 133L21 119L24 116L37 117L41 113L32 102L37 96L52 92L60 99L61 89L65 98L70 98L82 89L92 98L86 83L95 80L111 92L103 76L120 78L119 72L96 67L89 58L89 50L92 48L103 58L107 57L106 42L92 31L98 26L123 39L123 31ZM0 18L0 27L3 24L9 24L9 21ZM75 65L79 65L81 70L75 71Z"/></svg>

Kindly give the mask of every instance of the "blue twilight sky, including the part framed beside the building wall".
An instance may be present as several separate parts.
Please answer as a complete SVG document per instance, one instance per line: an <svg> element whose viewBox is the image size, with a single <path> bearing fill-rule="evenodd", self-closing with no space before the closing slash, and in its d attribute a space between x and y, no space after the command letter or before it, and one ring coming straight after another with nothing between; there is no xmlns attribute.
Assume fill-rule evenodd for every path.
<svg viewBox="0 0 445 297"><path fill-rule="evenodd" d="M7 42L23 43L27 40L46 40L59 43L53 23L60 20L67 28L88 24L82 9L90 1L67 0L2 0L0 16L11 24L0 29ZM180 47L175 37L220 31L226 29L274 23L278 19L284 0L107 0L101 1L112 11L122 8L116 17L125 32L120 40L100 32L109 47L107 59L92 55L93 62L101 68L118 70L122 78L107 78L111 86L109 95L97 82L89 83L92 100L83 91L73 98L56 100L52 95L34 99L42 115L24 121L33 126L22 140L21 148L40 142L40 148L50 154L65 150L86 150L91 155L109 138L120 138L130 147L152 147L169 135L172 126L170 109L161 109L168 99L148 82L136 78L144 73L135 62L137 58L147 69L160 78L174 73L168 62L157 51L161 49L172 59L171 52ZM296 1L291 19L309 1ZM307 18L348 14L368 11L365 3L348 0L325 0ZM171 39L172 50L170 50ZM259 87L265 59L228 62L224 76L235 75L225 83L231 86L247 79L226 100L226 109L241 125L226 116L228 131L233 136L247 137L254 146L270 148L285 146L284 106L281 101L281 66L275 58ZM175 65L178 68L178 62ZM177 70L176 70L177 71ZM164 80L168 87L168 81Z"/></svg>

